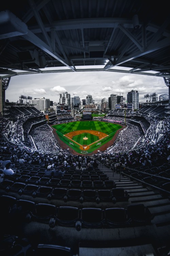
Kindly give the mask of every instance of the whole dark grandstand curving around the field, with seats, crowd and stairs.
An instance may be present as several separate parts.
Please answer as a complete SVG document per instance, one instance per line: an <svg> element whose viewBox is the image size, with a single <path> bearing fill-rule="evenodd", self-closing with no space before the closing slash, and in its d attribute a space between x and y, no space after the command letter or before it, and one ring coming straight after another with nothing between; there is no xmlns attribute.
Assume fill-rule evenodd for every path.
<svg viewBox="0 0 170 256"><path fill-rule="evenodd" d="M22 110L17 119L1 118L0 156L19 170L0 184L1 242L14 239L17 246L7 243L8 249L0 248L2 255L9 248L8 255L17 255L16 250L39 255L45 245L50 255L51 250L69 256L101 255L101 250L102 255L120 250L168 255L170 119L162 106L157 107L161 117L148 110L144 106L131 113L114 144L92 156L63 150L47 120L35 116L32 107L29 115ZM104 119L123 122L118 112ZM17 113L14 109L10 115ZM70 121L69 116L56 120ZM86 166L92 159L98 163L94 171L75 170L78 162ZM47 176L49 165L60 165L63 177Z"/></svg>

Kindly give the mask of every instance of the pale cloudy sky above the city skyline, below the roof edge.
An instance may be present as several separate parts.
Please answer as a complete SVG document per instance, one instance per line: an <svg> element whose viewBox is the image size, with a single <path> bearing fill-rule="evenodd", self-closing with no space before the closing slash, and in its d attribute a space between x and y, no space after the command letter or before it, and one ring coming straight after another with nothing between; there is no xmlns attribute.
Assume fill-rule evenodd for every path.
<svg viewBox="0 0 170 256"><path fill-rule="evenodd" d="M92 95L95 103L111 94L127 98L128 92L137 90L139 102L144 102L144 95L150 93L168 94L163 77L139 75L108 71L80 71L38 73L12 76L5 91L5 100L17 102L20 95L34 98L45 97L59 102L59 94L66 91L71 97L79 96L80 100Z"/></svg>

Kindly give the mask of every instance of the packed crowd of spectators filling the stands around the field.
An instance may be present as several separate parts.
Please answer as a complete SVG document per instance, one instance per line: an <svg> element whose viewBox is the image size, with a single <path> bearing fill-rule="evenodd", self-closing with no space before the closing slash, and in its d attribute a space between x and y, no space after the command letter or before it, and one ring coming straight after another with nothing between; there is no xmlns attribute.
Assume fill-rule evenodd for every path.
<svg viewBox="0 0 170 256"><path fill-rule="evenodd" d="M110 116L105 118L109 119ZM120 116L117 118L123 119ZM116 142L107 150L95 154L95 157L114 169L120 165L135 168L143 165L155 166L157 163L160 165L169 161L169 117L160 120L158 117L147 119L146 116L146 120L150 123L146 133L143 132L141 122L133 122L132 119L127 119L126 128L119 132ZM46 170L48 170L48 166L56 170L67 167L89 170L97 168L97 162L89 156L75 156L68 150L61 149L53 137L51 127L47 124L37 124L35 127L32 125L30 136L33 145L28 146L23 142L23 124L27 120L28 117L18 117L16 122L11 122L7 118L0 118L0 155L4 157L4 160L10 160L14 164L41 165ZM29 129L26 128L26 130ZM4 134L7 134L7 140L4 139ZM153 139L153 135L157 139ZM7 169L12 168L7 166Z"/></svg>

